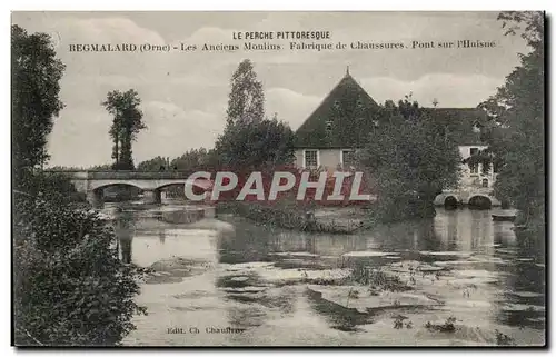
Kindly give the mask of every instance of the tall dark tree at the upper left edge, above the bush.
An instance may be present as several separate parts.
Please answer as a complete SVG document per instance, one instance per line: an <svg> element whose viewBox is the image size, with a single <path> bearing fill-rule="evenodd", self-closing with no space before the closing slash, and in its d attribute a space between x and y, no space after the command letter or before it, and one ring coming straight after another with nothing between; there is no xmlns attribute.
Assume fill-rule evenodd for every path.
<svg viewBox="0 0 556 357"><path fill-rule="evenodd" d="M24 172L47 163L47 140L53 118L63 108L59 99L64 65L57 58L47 33L28 34L11 27L11 120L13 182Z"/></svg>

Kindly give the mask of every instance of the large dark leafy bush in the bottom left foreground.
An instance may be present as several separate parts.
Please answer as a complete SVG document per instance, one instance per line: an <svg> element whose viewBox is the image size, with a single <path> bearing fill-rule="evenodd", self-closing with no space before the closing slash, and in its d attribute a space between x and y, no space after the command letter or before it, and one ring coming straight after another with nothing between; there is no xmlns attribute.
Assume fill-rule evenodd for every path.
<svg viewBox="0 0 556 357"><path fill-rule="evenodd" d="M112 228L56 192L16 198L16 344L119 344L135 329L133 314L146 311L133 301L139 286Z"/></svg>

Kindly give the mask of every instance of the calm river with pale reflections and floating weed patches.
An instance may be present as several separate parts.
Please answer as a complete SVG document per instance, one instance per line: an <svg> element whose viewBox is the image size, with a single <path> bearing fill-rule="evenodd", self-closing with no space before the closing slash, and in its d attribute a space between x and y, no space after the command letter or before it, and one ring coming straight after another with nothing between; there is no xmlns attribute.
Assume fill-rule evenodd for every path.
<svg viewBox="0 0 556 357"><path fill-rule="evenodd" d="M517 239L513 224L492 214L440 208L434 219L316 235L231 216L176 225L131 212L120 226L122 257L157 271L137 297L148 315L135 317L123 344L461 346L507 336L544 345L544 248ZM389 294L401 296L389 291L365 314L349 310L370 298L365 291L331 303L327 294L342 287L322 281L342 281L358 266L397 275L411 289L404 298L434 304L387 307ZM430 328L450 317L454 330Z"/></svg>

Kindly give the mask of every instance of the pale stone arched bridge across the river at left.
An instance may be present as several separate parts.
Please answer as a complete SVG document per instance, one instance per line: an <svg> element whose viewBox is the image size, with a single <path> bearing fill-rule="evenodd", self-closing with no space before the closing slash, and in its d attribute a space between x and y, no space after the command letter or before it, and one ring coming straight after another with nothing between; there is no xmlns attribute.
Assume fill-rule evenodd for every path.
<svg viewBox="0 0 556 357"><path fill-rule="evenodd" d="M160 204L161 190L168 186L186 185L207 190L210 181L189 180L192 172L182 171L63 171L71 178L78 192L87 195L87 200L98 207L102 204L103 189L116 185L133 186L142 190L146 204Z"/></svg>

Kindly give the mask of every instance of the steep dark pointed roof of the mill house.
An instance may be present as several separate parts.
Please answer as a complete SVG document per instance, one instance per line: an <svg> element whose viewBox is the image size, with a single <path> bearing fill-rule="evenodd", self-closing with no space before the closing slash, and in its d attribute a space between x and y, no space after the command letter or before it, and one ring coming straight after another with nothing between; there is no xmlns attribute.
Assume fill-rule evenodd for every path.
<svg viewBox="0 0 556 357"><path fill-rule="evenodd" d="M296 147L346 148L363 145L373 127L377 102L351 77L349 70L296 131ZM327 128L328 127L328 128Z"/></svg>

